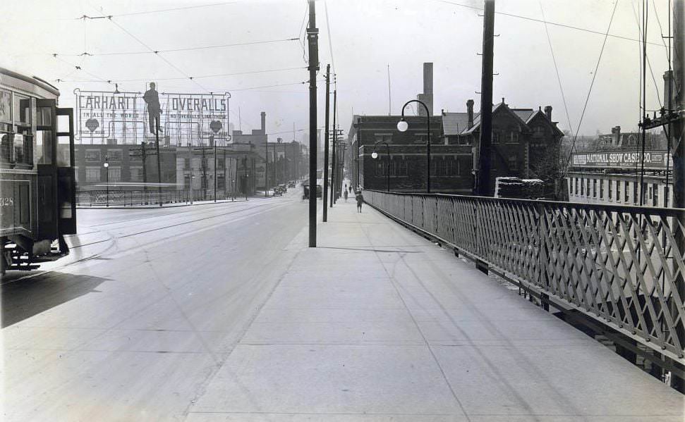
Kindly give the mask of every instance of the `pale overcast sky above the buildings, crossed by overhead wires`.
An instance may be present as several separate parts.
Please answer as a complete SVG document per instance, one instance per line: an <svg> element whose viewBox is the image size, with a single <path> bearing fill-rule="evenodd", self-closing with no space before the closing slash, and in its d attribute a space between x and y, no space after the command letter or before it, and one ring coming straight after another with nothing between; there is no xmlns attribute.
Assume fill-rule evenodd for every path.
<svg viewBox="0 0 685 422"><path fill-rule="evenodd" d="M615 37L607 38L581 134L610 132L614 125L624 131L637 128L641 44L631 39L639 37L641 3L619 0L610 30ZM659 96L648 70L647 108L657 109L667 69L660 30L661 25L667 35L667 1L649 3L648 58ZM0 66L53 83L61 90L61 106L74 105L75 87L114 91L114 85L103 82L111 80L119 82L120 90L144 92L146 82L156 80L159 92L231 92L230 116L236 129L238 108L243 131L259 128L260 111L267 113L269 133L291 131L293 124L297 130L308 128L308 85L298 83L308 80L306 44L302 44L305 0L3 0L2 4ZM511 106L552 105L559 128L569 129L570 118L575 132L614 4L498 0L495 73L499 75L493 102L505 97ZM327 63L337 74L339 122L345 132L352 113L387 115L387 66L394 115L423 90L425 61L434 63L436 114L441 109L465 111L467 99L480 107L475 92L480 91L483 18L478 8L482 7L483 1L477 0L316 1L321 63L318 125L324 123L322 75ZM550 23L599 32L547 25L569 118L545 24L525 19L542 20L543 13ZM112 18L79 20L83 15ZM245 45L192 49L222 44ZM150 49L190 50L154 54ZM78 56L84 52L93 56ZM97 55L133 52L143 54ZM243 74L226 75L236 73ZM222 76L206 77L210 75ZM273 140L276 136L292 138L284 133ZM301 139L302 132L297 137Z"/></svg>

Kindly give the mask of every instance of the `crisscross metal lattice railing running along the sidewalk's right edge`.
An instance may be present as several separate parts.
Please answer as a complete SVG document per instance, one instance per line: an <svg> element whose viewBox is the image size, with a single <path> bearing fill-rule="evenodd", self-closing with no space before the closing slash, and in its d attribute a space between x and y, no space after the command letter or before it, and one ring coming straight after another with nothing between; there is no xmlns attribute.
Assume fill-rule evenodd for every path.
<svg viewBox="0 0 685 422"><path fill-rule="evenodd" d="M365 201L683 362L685 210L365 191Z"/></svg>

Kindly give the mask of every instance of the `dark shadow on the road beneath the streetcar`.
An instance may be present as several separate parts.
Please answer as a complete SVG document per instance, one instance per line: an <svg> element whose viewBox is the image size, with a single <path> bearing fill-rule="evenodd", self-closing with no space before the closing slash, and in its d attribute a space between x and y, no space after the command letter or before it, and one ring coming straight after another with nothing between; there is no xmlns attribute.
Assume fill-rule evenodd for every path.
<svg viewBox="0 0 685 422"><path fill-rule="evenodd" d="M107 278L51 271L24 280L8 281L4 278L4 284L0 286L1 328L94 292Z"/></svg>

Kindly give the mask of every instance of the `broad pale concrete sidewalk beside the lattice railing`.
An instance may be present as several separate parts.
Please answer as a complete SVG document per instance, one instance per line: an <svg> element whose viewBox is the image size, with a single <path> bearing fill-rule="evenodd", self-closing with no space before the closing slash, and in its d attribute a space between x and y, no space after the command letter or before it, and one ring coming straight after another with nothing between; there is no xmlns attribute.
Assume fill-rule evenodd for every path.
<svg viewBox="0 0 685 422"><path fill-rule="evenodd" d="M684 396L353 200L298 254L188 421L683 421Z"/></svg>

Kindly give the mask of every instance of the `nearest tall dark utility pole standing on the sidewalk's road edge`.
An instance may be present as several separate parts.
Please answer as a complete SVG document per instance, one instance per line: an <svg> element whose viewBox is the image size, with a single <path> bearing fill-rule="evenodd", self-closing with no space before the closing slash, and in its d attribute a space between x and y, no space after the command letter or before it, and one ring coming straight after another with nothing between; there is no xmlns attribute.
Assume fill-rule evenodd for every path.
<svg viewBox="0 0 685 422"><path fill-rule="evenodd" d="M319 70L319 30L314 0L309 1L309 247L316 247L316 73ZM324 198L324 206L326 199Z"/></svg>

